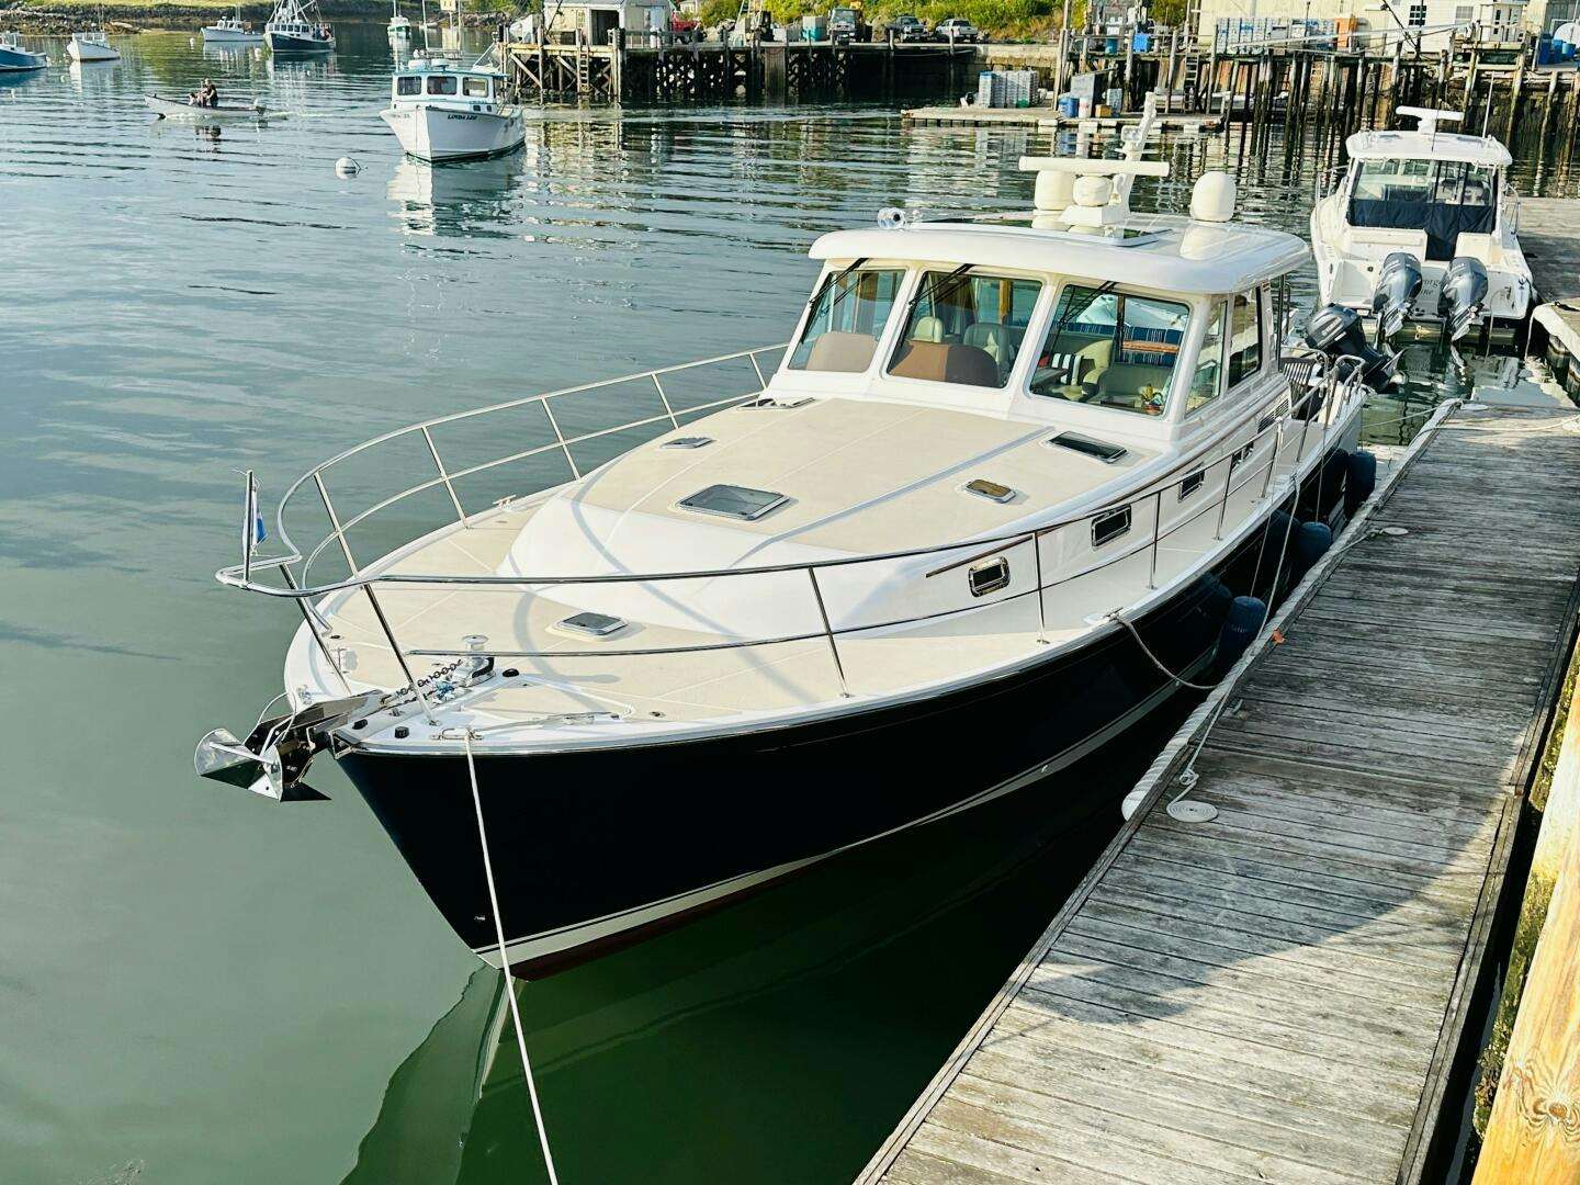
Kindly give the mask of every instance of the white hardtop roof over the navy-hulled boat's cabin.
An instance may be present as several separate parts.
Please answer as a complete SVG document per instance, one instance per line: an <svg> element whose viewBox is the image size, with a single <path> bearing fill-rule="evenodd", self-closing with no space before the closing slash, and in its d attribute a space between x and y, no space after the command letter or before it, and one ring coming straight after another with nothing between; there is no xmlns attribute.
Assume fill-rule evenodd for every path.
<svg viewBox="0 0 1580 1185"><path fill-rule="evenodd" d="M1294 272L1310 248L1292 234L1243 223L1128 213L1125 235L923 223L902 229L834 231L812 245L823 261L896 261L1002 267L1115 281L1183 295L1223 295Z"/></svg>

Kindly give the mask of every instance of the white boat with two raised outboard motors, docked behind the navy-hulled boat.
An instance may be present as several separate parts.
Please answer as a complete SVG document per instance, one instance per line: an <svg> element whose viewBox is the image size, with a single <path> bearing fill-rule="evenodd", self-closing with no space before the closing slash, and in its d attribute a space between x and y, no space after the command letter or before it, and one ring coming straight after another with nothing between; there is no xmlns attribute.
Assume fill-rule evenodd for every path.
<svg viewBox="0 0 1580 1185"><path fill-rule="evenodd" d="M1447 341L1523 321L1533 284L1509 150L1492 136L1438 131L1457 111L1398 114L1416 130L1351 136L1348 172L1311 210L1322 303L1375 316L1379 340L1406 321L1439 322Z"/></svg>

